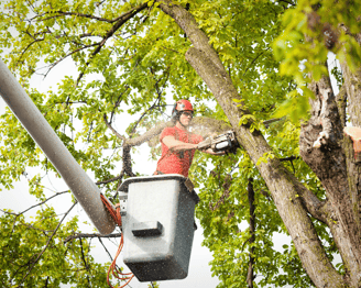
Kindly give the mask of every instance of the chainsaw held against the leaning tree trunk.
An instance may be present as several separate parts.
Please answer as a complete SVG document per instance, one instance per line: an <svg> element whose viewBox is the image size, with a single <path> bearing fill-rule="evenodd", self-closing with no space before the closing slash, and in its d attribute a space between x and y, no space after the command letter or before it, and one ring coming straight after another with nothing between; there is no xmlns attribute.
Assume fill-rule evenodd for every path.
<svg viewBox="0 0 361 288"><path fill-rule="evenodd" d="M238 143L234 132L227 131L215 137L208 137L198 144L198 149L211 148L214 152L226 152L226 153L237 153L237 148L240 146Z"/></svg>

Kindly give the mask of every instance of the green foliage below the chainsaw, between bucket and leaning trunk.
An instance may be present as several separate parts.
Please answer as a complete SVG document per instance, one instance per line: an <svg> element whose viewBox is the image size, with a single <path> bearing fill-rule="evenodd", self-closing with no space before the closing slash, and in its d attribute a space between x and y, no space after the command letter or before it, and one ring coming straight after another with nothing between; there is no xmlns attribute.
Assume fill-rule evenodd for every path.
<svg viewBox="0 0 361 288"><path fill-rule="evenodd" d="M293 143L295 144L295 143ZM292 151L289 151L292 153ZM197 218L205 228L204 245L214 254L212 274L221 283L218 287L247 286L250 248L254 252L255 287L310 287L311 281L303 270L293 245L283 247L273 237L286 233L267 188L244 152L225 158L212 158L215 167L207 171L207 159L197 158L193 166L194 181L199 184L200 203ZM302 160L293 165L297 176L309 175L309 168ZM255 242L250 244L248 181L253 178L255 191ZM313 178L309 186L313 186ZM204 184L204 185L201 185ZM326 231L325 228L320 229ZM325 233L325 237L327 233ZM287 243L287 242L286 242ZM293 277L297 275L297 277Z"/></svg>

